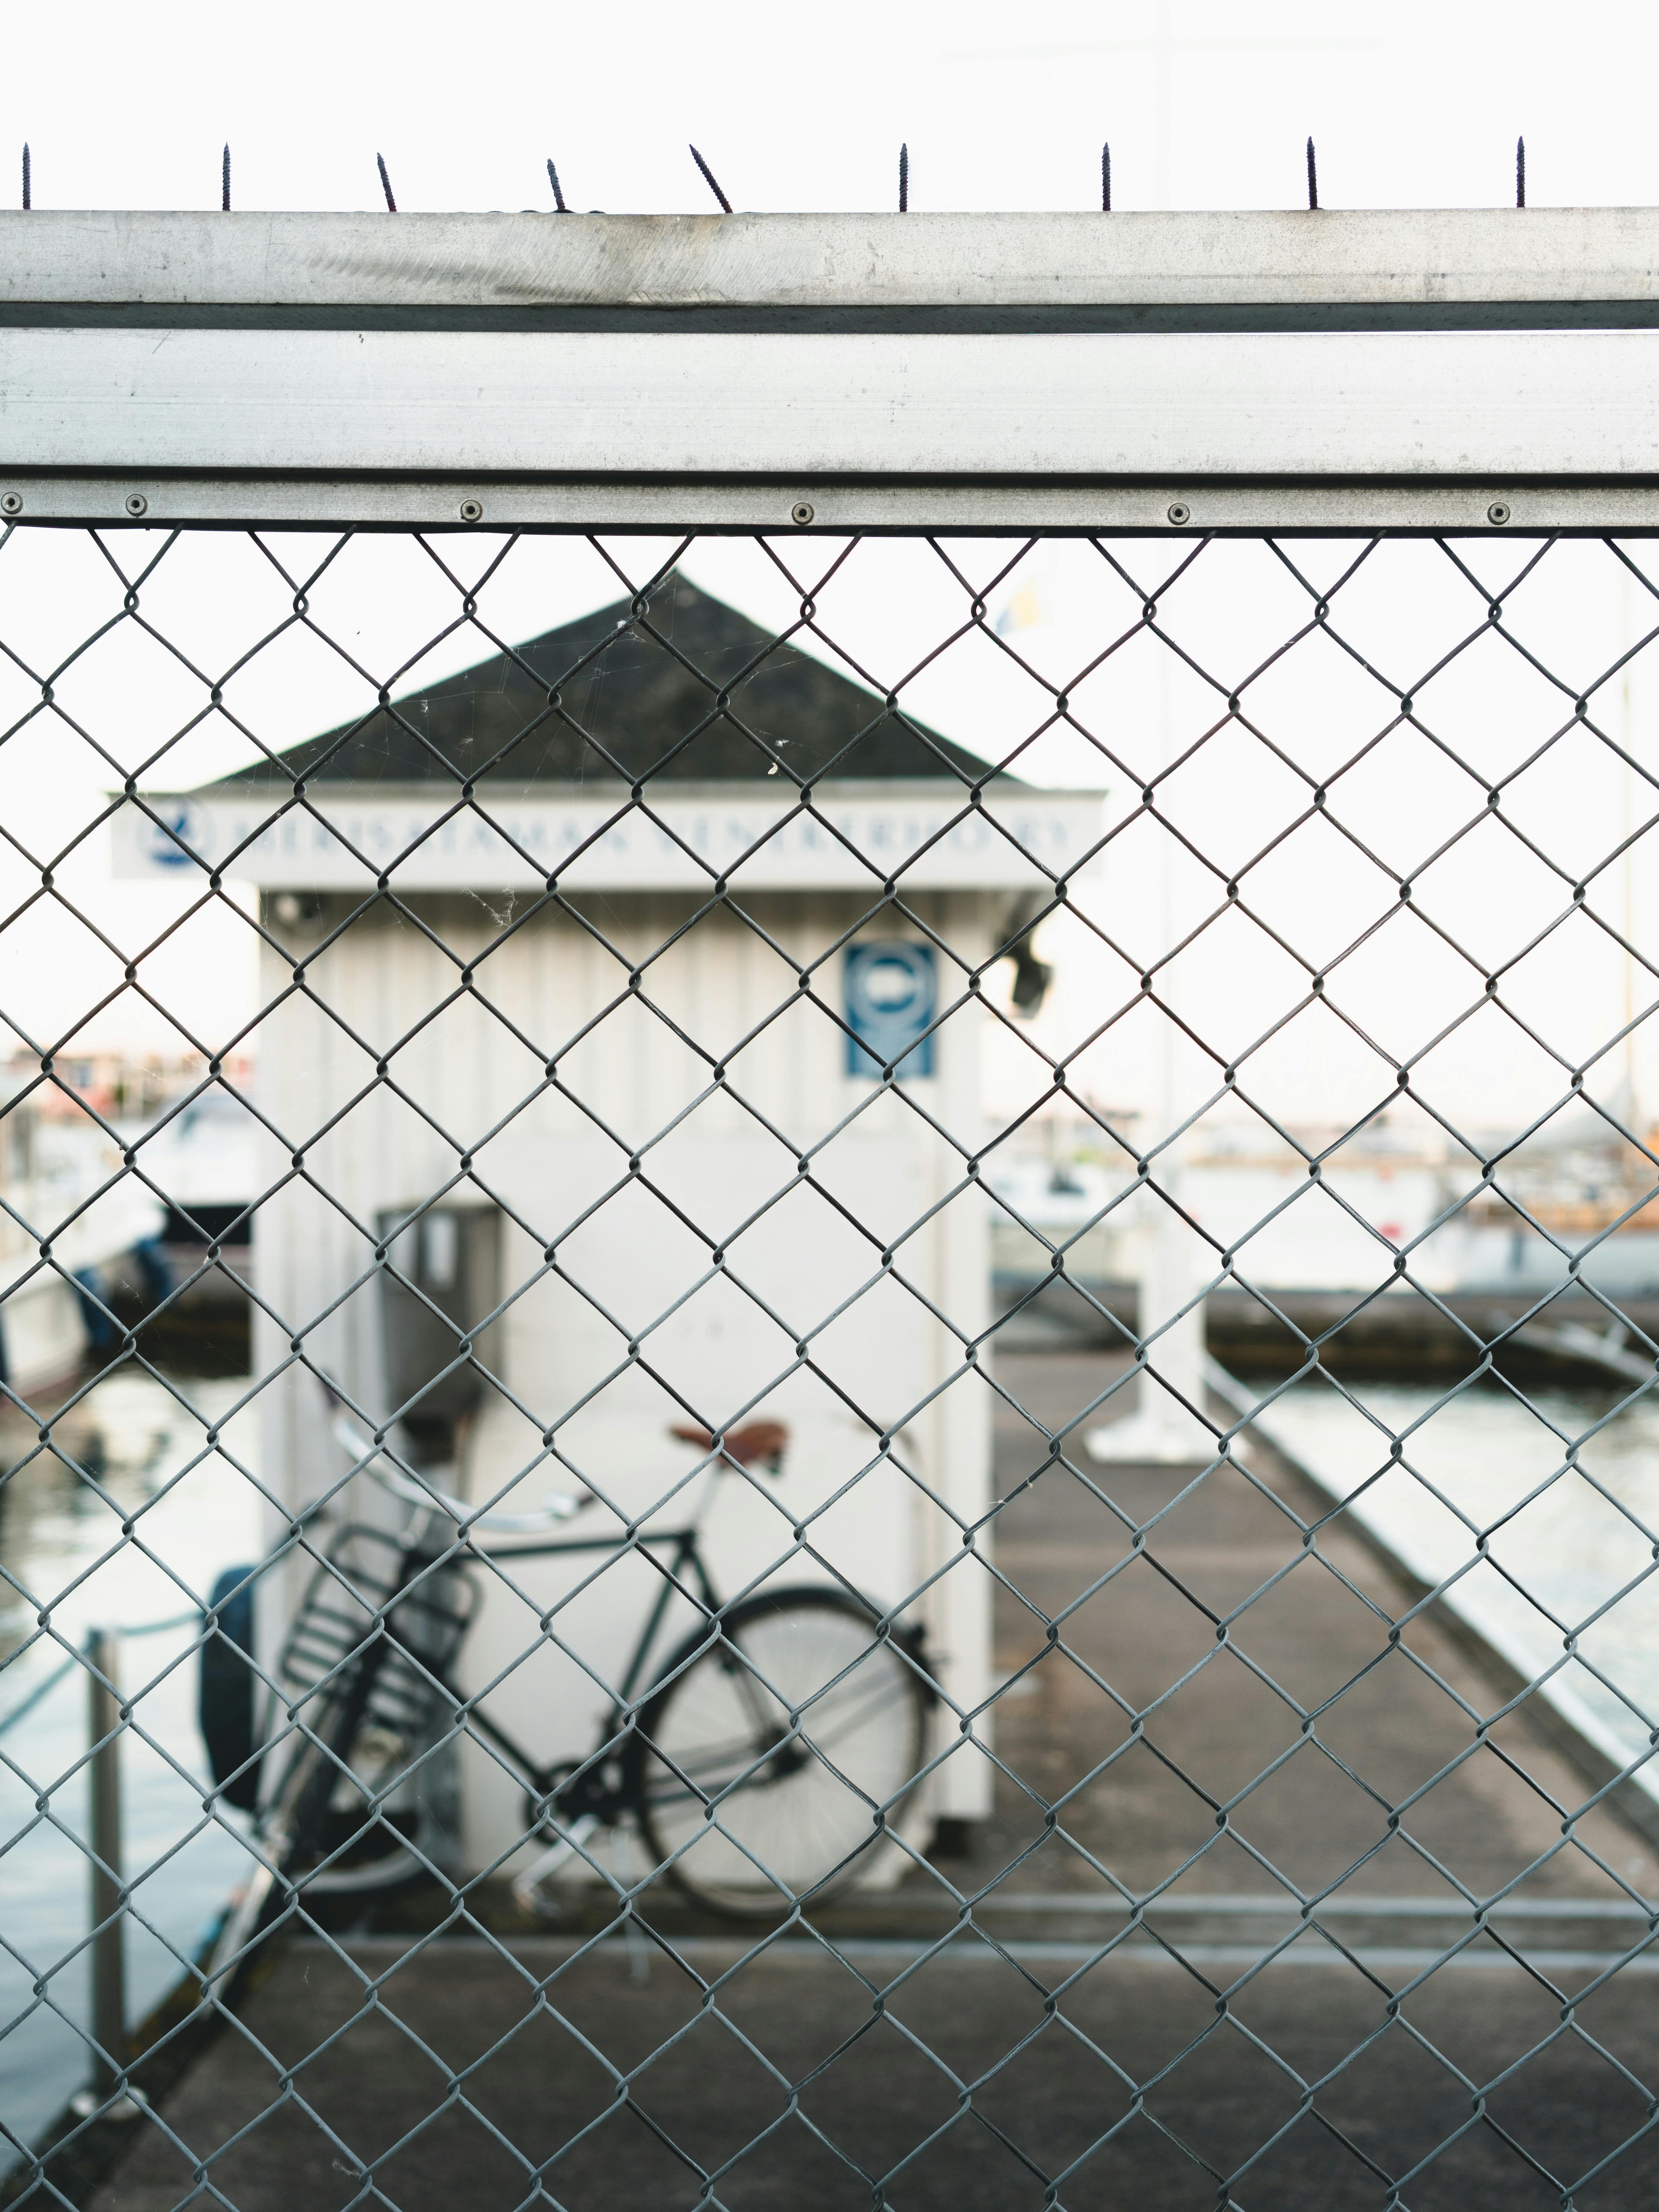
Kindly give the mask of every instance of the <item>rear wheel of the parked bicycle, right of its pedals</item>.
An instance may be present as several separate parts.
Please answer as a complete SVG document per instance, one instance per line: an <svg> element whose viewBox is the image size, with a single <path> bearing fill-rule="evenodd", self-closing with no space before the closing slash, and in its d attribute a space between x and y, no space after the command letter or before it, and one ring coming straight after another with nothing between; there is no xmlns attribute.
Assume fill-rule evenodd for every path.
<svg viewBox="0 0 1659 2212"><path fill-rule="evenodd" d="M779 1590L692 1637L639 1717L646 1845L697 1902L772 1918L858 1878L927 1759L931 1683L836 1590Z"/></svg>

